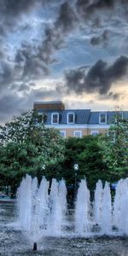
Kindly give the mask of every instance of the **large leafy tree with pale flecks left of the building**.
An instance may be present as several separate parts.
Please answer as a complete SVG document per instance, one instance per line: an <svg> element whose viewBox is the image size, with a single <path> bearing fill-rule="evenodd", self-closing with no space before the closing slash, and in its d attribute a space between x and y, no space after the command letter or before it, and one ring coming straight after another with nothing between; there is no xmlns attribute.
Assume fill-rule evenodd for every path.
<svg viewBox="0 0 128 256"><path fill-rule="evenodd" d="M37 111L28 111L0 126L0 179L4 183L17 183L26 172L40 179L45 169L64 159L64 140L59 131L44 126L43 118Z"/></svg>

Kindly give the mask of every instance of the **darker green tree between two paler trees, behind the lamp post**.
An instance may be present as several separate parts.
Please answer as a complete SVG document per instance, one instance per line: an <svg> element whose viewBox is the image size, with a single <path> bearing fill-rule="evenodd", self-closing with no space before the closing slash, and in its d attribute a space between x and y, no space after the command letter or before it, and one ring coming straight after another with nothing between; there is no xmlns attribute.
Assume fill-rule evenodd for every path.
<svg viewBox="0 0 128 256"><path fill-rule="evenodd" d="M99 178L105 180L108 175L97 137L67 138L66 160L63 165L63 177L67 180L67 184L75 182L75 171L73 170L75 163L79 164L77 180L86 177L90 189L95 188Z"/></svg>

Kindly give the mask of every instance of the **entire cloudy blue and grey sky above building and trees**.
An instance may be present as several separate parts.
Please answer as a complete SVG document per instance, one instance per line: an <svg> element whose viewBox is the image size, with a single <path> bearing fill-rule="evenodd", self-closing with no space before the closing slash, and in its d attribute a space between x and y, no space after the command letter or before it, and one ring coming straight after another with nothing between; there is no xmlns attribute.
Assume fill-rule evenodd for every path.
<svg viewBox="0 0 128 256"><path fill-rule="evenodd" d="M128 109L127 0L0 0L0 123L34 101Z"/></svg>

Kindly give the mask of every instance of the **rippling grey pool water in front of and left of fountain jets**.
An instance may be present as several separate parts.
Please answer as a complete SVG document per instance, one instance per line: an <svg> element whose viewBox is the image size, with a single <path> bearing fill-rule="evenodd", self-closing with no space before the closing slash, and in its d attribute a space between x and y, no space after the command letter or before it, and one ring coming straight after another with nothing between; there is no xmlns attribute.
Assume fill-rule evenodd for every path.
<svg viewBox="0 0 128 256"><path fill-rule="evenodd" d="M0 255L49 256L128 256L127 237L43 237L38 251L32 251L32 241L15 229L15 204L0 203Z"/></svg>

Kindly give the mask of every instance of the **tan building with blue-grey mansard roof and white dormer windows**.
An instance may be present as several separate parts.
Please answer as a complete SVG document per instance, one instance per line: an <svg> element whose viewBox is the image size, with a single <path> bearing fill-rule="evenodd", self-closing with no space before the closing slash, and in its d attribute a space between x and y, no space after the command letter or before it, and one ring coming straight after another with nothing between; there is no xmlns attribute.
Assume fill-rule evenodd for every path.
<svg viewBox="0 0 128 256"><path fill-rule="evenodd" d="M63 102L34 102L33 108L42 115L47 127L54 127L62 137L83 137L108 133L113 119L118 114L128 118L128 111L91 111L90 109L65 109Z"/></svg>

